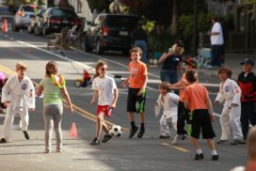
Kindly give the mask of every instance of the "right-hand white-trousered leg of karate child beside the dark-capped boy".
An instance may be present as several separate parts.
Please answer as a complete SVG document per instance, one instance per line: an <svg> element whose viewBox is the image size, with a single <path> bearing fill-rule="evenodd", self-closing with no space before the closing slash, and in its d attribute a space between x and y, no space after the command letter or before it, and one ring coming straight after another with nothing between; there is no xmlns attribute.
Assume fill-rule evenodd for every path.
<svg viewBox="0 0 256 171"><path fill-rule="evenodd" d="M243 133L240 127L240 116L241 116L241 107L232 107L230 111L230 122L232 127L232 138L233 140L242 140Z"/></svg>

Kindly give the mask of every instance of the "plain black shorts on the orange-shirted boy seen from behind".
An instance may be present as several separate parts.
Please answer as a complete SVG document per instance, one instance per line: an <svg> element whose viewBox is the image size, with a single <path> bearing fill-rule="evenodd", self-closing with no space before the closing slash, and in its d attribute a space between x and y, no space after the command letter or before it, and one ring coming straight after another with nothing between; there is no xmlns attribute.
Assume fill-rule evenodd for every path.
<svg viewBox="0 0 256 171"><path fill-rule="evenodd" d="M193 111L193 117L190 120L191 123L191 136L194 138L200 138L200 131L202 139L212 139L216 137L214 132L211 117L207 109L198 109Z"/></svg>

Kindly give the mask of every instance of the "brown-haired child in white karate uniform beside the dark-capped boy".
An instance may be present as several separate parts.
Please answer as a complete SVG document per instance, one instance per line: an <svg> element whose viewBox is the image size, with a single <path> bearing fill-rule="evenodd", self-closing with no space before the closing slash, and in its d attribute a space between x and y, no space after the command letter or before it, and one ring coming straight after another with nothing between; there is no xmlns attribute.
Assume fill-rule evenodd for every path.
<svg viewBox="0 0 256 171"><path fill-rule="evenodd" d="M219 119L222 133L217 144L227 142L231 138L231 145L237 145L243 139L240 127L241 89L235 81L230 79L232 77L232 70L230 68L219 68L218 77L221 83L215 103L219 104L222 101L225 101L225 103Z"/></svg>

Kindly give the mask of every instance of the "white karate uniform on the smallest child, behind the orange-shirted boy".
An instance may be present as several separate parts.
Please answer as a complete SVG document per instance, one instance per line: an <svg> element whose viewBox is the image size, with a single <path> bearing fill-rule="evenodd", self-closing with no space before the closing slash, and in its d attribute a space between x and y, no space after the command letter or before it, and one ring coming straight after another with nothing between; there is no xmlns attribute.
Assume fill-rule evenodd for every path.
<svg viewBox="0 0 256 171"><path fill-rule="evenodd" d="M162 94L159 95L158 100L156 101L157 105L154 106L155 117L158 117L163 107L163 115L160 118L160 132L161 135L169 136L170 122L177 132L177 115L178 115L178 102L180 97L174 93L167 93L162 100Z"/></svg>

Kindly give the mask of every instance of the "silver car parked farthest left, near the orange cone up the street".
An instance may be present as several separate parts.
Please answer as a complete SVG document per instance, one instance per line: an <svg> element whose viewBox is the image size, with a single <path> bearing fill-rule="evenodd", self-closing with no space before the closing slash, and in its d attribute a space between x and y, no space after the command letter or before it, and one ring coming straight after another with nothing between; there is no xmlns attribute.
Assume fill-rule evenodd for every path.
<svg viewBox="0 0 256 171"><path fill-rule="evenodd" d="M14 16L12 30L19 31L21 28L26 28L30 23L30 18L35 17L35 12L39 9L39 6L21 5Z"/></svg>

